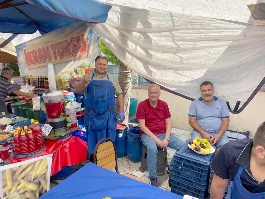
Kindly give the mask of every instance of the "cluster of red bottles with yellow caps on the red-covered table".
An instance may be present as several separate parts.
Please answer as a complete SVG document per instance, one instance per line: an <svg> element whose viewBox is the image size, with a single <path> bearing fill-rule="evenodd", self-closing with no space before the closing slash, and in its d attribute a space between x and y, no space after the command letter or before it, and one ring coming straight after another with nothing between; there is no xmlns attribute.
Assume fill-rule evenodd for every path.
<svg viewBox="0 0 265 199"><path fill-rule="evenodd" d="M37 120L31 119L29 129L27 126L22 130L19 126L13 136L14 153L32 153L44 147L42 130Z"/></svg>

